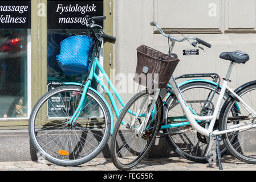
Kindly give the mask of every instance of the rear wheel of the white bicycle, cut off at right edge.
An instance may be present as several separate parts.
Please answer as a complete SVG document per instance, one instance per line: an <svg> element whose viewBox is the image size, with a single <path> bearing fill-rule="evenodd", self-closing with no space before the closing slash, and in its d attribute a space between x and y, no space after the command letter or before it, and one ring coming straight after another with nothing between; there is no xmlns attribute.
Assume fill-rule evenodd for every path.
<svg viewBox="0 0 256 182"><path fill-rule="evenodd" d="M250 92L250 93L249 93ZM253 94L252 94L253 92ZM256 94L256 84L249 85L240 90L237 95L242 98L243 101L246 102L247 105L249 105L253 110L256 109L254 106L254 102L256 101L254 96ZM220 129L226 130L227 125L233 125L233 121L239 120L237 123L240 123L240 121L250 121L249 125L255 124L255 118L252 117L252 115L244 109L242 106L239 107L239 114L237 118L230 117L230 111L234 105L235 99L230 98L230 101L227 101L227 104L222 109L222 113L220 115L221 117L221 123L220 123ZM241 105L240 102L237 102L238 105ZM231 111L232 112L232 111ZM235 124L237 124L235 123ZM230 136L235 136L237 138L237 142L230 142ZM251 164L256 164L256 150L255 150L255 144L252 142L254 141L253 138L255 138L255 129L248 129L245 131L233 131L231 133L222 134L222 138L224 140L224 143L227 147L227 149L230 151L230 153L235 156L235 158Z"/></svg>

